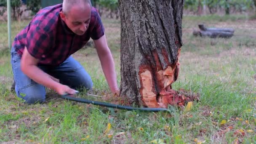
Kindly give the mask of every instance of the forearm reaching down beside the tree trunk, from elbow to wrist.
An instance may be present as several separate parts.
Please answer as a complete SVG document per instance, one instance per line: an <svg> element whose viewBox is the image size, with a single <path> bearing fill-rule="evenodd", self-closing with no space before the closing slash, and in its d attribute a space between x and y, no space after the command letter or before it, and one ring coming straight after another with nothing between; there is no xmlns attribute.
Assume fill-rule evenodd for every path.
<svg viewBox="0 0 256 144"><path fill-rule="evenodd" d="M118 90L118 86L115 72L115 64L111 53L104 55L102 58L100 58L100 61L109 88L112 91L112 93L115 93Z"/></svg>

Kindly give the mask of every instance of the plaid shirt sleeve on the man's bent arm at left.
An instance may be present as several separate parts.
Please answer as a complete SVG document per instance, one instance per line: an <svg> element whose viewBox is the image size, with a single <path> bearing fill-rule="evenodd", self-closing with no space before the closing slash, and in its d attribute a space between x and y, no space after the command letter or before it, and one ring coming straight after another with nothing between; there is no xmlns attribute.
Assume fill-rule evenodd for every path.
<svg viewBox="0 0 256 144"><path fill-rule="evenodd" d="M45 59L50 44L51 37L40 27L36 26L27 32L27 51L36 59Z"/></svg>

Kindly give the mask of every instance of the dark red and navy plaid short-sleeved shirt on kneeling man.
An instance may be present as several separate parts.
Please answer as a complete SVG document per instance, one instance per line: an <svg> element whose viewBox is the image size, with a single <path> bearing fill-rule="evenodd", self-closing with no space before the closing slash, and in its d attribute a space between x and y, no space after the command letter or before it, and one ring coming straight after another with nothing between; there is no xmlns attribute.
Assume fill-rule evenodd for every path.
<svg viewBox="0 0 256 144"><path fill-rule="evenodd" d="M104 35L104 26L96 8L91 10L91 22L84 35L73 33L60 18L62 4L40 10L32 21L16 35L13 47L21 56L24 47L39 59L39 64L58 66L88 42Z"/></svg>

